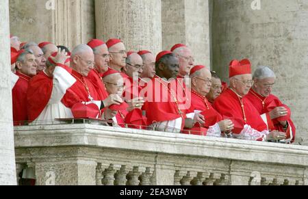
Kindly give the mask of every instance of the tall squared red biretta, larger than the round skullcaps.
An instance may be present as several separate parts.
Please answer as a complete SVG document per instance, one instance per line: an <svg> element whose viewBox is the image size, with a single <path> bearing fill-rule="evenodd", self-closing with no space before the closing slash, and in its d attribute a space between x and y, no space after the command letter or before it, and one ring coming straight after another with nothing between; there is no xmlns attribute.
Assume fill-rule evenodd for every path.
<svg viewBox="0 0 308 199"><path fill-rule="evenodd" d="M242 61L232 60L229 64L229 77L234 77L236 75L246 75L251 74L251 62L248 59L243 59Z"/></svg>

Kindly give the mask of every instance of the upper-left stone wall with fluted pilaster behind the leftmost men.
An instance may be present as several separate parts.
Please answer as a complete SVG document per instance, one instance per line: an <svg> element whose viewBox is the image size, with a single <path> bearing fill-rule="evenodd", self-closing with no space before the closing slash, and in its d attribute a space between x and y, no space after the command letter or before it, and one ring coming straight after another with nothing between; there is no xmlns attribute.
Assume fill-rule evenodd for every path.
<svg viewBox="0 0 308 199"><path fill-rule="evenodd" d="M95 36L94 0L10 0L11 33L70 49Z"/></svg>

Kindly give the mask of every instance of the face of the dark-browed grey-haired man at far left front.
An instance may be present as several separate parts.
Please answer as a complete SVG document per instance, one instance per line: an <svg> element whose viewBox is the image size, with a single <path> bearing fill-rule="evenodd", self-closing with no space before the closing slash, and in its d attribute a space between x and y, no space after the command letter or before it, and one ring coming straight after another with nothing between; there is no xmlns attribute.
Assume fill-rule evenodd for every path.
<svg viewBox="0 0 308 199"><path fill-rule="evenodd" d="M21 72L29 77L34 77L36 75L36 57L32 54L25 55L25 62L18 62L17 68Z"/></svg>

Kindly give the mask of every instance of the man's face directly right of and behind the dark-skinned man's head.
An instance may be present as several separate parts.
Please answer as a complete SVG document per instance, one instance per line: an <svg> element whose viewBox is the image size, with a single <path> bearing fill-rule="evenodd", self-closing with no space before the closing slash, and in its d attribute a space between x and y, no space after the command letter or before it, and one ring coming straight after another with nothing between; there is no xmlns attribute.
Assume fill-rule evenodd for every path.
<svg viewBox="0 0 308 199"><path fill-rule="evenodd" d="M194 56L192 55L192 51L187 47L183 47L180 52L178 55L180 65L179 75L184 77L185 75L189 75L190 70L194 67Z"/></svg>

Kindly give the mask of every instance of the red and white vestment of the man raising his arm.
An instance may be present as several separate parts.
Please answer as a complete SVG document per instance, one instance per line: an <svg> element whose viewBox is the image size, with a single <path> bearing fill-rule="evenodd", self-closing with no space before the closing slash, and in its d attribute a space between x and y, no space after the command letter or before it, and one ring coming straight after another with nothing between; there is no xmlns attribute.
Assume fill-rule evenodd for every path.
<svg viewBox="0 0 308 199"><path fill-rule="evenodd" d="M42 71L29 81L27 108L30 122L71 118L60 104L66 90L76 82L71 72L68 66L57 64L53 77Z"/></svg>

